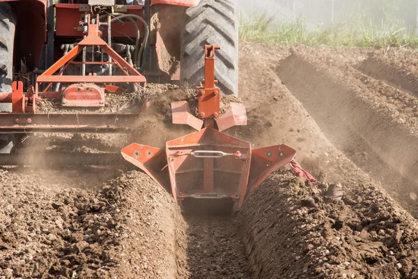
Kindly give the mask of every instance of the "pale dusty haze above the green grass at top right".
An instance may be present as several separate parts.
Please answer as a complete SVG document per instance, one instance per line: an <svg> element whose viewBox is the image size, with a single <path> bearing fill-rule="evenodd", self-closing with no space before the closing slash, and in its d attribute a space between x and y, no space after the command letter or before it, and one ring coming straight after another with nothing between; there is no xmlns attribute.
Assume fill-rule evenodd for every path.
<svg viewBox="0 0 418 279"><path fill-rule="evenodd" d="M266 12L279 20L302 19L310 27L348 23L359 16L376 23L396 20L408 29L417 26L417 0L238 0L245 15Z"/></svg>

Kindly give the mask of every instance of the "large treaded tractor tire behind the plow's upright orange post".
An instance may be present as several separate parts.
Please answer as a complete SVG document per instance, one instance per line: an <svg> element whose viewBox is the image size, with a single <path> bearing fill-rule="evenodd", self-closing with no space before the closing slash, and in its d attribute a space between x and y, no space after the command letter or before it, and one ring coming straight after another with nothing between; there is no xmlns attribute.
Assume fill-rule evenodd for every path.
<svg viewBox="0 0 418 279"><path fill-rule="evenodd" d="M219 45L215 80L224 95L238 97L238 19L230 0L202 0L187 8L182 36L180 80L199 86L204 78L204 45Z"/></svg>

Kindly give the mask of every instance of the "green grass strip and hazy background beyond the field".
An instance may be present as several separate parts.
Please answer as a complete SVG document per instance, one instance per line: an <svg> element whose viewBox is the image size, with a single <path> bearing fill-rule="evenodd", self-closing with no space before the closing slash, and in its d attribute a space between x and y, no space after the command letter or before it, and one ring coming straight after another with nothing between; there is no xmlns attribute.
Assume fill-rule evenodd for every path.
<svg viewBox="0 0 418 279"><path fill-rule="evenodd" d="M240 39L244 41L304 45L359 47L415 47L417 0L300 0L307 10L295 10L293 17L282 16L268 6L240 13ZM298 1L277 0L277 6ZM328 5L324 10L325 4ZM313 5L314 4L314 5ZM276 6L276 7L277 7ZM332 7L334 10L330 10ZM315 9L318 10L315 10ZM299 12L297 14L297 12ZM314 24L311 18L323 18ZM331 20L330 20L331 19ZM309 21L310 20L310 21Z"/></svg>

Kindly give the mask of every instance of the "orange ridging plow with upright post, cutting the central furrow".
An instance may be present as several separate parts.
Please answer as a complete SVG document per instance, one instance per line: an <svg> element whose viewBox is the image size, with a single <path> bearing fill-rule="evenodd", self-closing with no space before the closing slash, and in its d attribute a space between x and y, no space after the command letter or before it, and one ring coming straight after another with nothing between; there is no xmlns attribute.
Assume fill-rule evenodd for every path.
<svg viewBox="0 0 418 279"><path fill-rule="evenodd" d="M130 144L123 157L171 190L180 205L185 199L232 199L233 210L242 206L253 191L275 169L291 163L296 151L285 144L251 149L251 144L223 130L246 125L245 107L231 103L219 115L220 91L215 86L215 45L205 46L205 80L197 89L197 117L187 102L172 103L173 123L187 124L195 133L170 140L165 150Z"/></svg>

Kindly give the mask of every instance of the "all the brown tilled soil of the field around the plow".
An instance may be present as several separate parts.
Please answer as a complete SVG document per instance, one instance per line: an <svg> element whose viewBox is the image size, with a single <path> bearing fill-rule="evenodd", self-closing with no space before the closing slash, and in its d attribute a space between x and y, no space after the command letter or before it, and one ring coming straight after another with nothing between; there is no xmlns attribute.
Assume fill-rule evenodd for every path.
<svg viewBox="0 0 418 279"><path fill-rule="evenodd" d="M292 146L318 182L285 167L237 216L182 215L125 165L1 168L0 278L416 278L416 61L405 48L242 44L240 99L221 110L244 103L248 125L226 133ZM137 133L30 135L20 151L164 148L194 132L171 123L169 103L195 113L195 98L169 84L109 94L100 112L140 112Z"/></svg>

